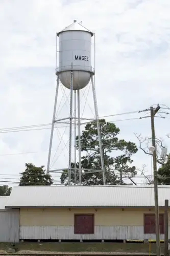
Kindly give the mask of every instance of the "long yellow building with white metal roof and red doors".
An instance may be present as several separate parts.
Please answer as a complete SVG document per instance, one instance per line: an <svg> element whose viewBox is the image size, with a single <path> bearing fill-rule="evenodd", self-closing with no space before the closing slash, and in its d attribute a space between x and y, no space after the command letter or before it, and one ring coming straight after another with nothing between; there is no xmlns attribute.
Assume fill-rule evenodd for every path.
<svg viewBox="0 0 170 256"><path fill-rule="evenodd" d="M170 186L158 193L164 239ZM153 186L18 186L5 205L19 209L20 240L155 239Z"/></svg>

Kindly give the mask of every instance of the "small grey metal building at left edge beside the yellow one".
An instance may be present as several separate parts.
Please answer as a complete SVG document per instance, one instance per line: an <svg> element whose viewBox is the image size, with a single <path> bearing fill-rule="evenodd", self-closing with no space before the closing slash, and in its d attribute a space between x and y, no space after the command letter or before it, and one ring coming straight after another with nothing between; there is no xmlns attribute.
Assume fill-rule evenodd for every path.
<svg viewBox="0 0 170 256"><path fill-rule="evenodd" d="M0 242L19 241L19 210L6 209L9 197L0 197Z"/></svg>

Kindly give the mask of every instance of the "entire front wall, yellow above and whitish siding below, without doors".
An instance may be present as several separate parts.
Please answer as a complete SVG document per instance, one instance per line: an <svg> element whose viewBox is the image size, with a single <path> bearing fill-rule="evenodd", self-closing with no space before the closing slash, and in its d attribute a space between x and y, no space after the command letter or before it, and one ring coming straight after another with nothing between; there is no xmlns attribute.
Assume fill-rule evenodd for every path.
<svg viewBox="0 0 170 256"><path fill-rule="evenodd" d="M77 214L94 215L93 234L75 234L74 217ZM154 208L25 208L20 209L19 238L155 239L155 234L144 234L144 214L154 214ZM164 234L160 238L163 239Z"/></svg>

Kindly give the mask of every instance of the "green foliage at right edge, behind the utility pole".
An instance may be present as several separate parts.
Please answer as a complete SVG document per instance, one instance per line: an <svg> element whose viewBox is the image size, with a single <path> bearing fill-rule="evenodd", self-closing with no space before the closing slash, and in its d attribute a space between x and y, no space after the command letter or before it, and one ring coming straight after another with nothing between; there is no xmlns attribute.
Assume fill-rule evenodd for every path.
<svg viewBox="0 0 170 256"><path fill-rule="evenodd" d="M158 184L170 185L170 154L167 157L167 162L158 169Z"/></svg>

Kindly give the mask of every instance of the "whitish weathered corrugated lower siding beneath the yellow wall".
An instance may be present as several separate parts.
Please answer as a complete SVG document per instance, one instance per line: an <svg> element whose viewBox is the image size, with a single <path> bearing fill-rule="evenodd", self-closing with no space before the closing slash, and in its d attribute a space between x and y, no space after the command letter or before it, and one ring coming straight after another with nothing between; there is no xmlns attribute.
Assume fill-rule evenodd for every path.
<svg viewBox="0 0 170 256"><path fill-rule="evenodd" d="M74 226L41 226L30 227L20 226L20 239L156 239L155 234L144 234L141 226L95 226L94 234L75 234ZM164 234L160 234L160 239L164 239ZM170 228L169 228L170 239Z"/></svg>

